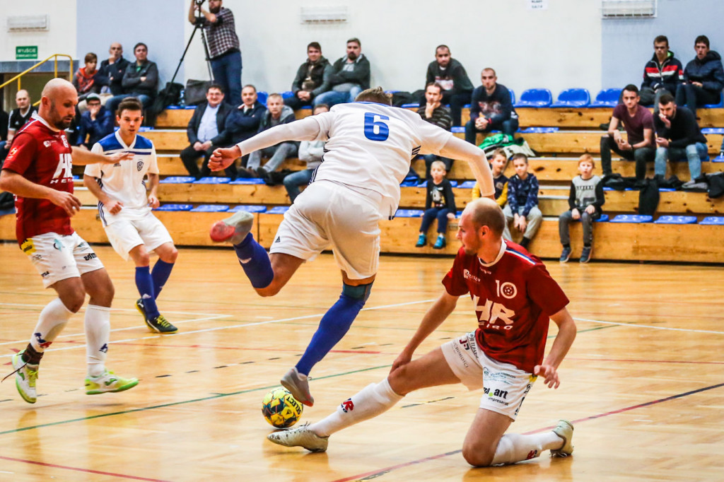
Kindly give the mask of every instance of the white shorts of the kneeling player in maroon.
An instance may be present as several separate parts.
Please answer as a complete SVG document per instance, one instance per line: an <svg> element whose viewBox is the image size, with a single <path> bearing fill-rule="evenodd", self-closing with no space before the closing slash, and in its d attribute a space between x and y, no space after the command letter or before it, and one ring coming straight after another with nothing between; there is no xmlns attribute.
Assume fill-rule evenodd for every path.
<svg viewBox="0 0 724 482"><path fill-rule="evenodd" d="M481 408L515 420L536 381L535 375L489 358L478 347L474 332L443 344L442 354L463 385L469 390L483 389Z"/></svg>

